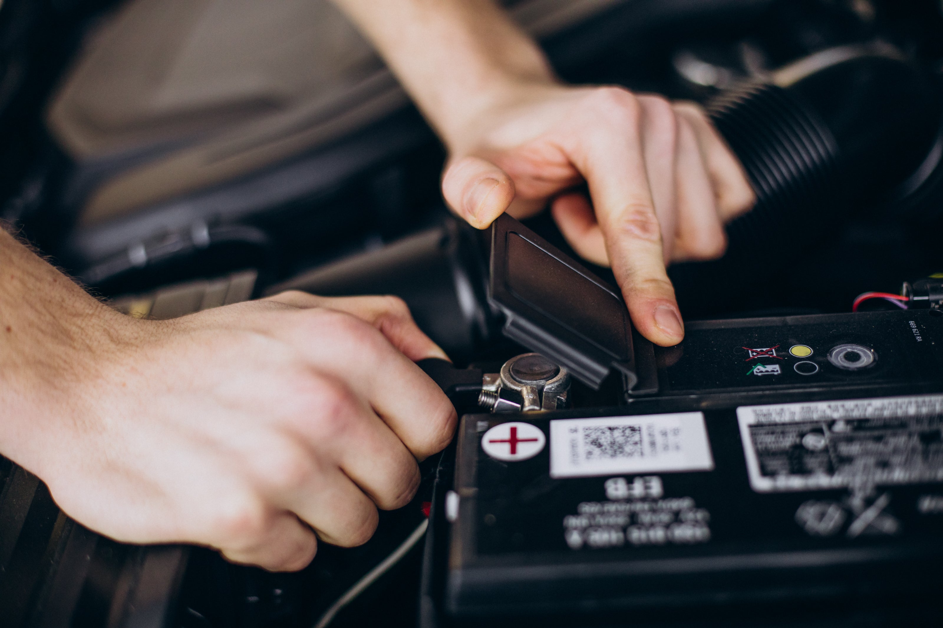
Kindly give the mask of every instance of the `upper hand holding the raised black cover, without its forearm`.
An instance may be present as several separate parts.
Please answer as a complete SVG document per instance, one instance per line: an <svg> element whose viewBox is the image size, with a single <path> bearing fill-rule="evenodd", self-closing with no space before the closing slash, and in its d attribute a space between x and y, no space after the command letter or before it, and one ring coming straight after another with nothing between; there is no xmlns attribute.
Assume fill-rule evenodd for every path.
<svg viewBox="0 0 943 628"><path fill-rule="evenodd" d="M626 89L522 84L446 138L456 213L483 229L550 202L573 250L612 266L637 329L662 346L684 336L666 266L720 257L723 225L754 201L698 105ZM591 203L571 191L584 182Z"/></svg>

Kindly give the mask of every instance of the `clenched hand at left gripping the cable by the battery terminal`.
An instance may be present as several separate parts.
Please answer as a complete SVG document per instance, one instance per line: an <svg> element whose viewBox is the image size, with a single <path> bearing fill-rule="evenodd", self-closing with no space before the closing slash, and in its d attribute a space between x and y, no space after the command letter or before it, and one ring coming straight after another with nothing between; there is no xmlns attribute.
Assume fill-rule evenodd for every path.
<svg viewBox="0 0 943 628"><path fill-rule="evenodd" d="M32 392L7 453L114 539L301 569L316 535L370 539L377 507L409 502L416 459L455 427L412 362L445 355L398 298L290 292L169 321L96 311L80 333L65 394Z"/></svg>

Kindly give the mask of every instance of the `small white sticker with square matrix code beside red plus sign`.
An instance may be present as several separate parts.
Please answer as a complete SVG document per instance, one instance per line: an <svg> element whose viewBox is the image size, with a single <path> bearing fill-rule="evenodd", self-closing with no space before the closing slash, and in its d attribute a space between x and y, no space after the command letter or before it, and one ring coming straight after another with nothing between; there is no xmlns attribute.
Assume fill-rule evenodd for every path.
<svg viewBox="0 0 943 628"><path fill-rule="evenodd" d="M550 422L551 477L713 468L702 412Z"/></svg>

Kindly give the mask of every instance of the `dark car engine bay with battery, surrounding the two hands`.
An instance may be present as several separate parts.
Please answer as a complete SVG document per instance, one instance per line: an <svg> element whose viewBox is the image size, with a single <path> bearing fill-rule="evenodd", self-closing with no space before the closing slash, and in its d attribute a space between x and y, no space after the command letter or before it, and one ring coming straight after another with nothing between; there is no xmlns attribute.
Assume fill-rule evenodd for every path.
<svg viewBox="0 0 943 628"><path fill-rule="evenodd" d="M687 329L674 347L633 329L611 271L577 261L548 212L486 231L452 217L445 155L411 105L218 185L83 221L133 164L81 162L38 112L117 4L0 11L0 40L32 69L5 69L0 216L136 317L284 290L397 295L454 362L422 367L460 426L373 539L324 544L298 573L101 537L2 459L9 625L938 617L939 3L636 0L542 34L567 81L707 107L753 186L722 259L669 269Z"/></svg>

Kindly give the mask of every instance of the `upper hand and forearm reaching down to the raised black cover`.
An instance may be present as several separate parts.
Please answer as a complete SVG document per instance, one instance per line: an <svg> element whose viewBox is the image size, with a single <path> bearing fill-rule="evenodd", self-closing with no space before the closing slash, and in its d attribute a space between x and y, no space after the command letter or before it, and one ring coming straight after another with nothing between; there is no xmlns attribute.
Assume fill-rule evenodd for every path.
<svg viewBox="0 0 943 628"><path fill-rule="evenodd" d="M610 265L653 342L684 335L666 273L719 257L753 205L736 158L693 104L561 85L493 0L335 0L449 148L446 201L485 228L548 203L574 250ZM590 199L573 188L587 183Z"/></svg>

